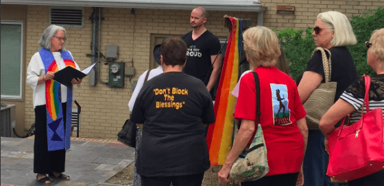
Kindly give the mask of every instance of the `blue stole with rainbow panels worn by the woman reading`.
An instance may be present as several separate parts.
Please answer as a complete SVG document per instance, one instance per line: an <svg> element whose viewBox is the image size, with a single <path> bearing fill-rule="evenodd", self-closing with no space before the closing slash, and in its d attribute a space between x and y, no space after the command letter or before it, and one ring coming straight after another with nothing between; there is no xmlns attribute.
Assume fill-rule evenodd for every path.
<svg viewBox="0 0 384 186"><path fill-rule="evenodd" d="M43 60L45 73L59 70L51 51L40 49L38 53L40 53L40 57ZM60 54L62 59L64 59L65 66L76 67L69 51L60 51ZM67 87L67 114L64 129L60 85L60 83L53 79L45 81L48 151L68 150L71 146L72 88Z"/></svg>

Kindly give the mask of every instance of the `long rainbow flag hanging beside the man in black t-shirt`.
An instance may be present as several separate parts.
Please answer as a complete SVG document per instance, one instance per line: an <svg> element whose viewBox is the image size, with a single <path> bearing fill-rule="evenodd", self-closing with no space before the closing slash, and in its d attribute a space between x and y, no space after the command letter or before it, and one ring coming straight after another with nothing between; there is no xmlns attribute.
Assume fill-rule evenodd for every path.
<svg viewBox="0 0 384 186"><path fill-rule="evenodd" d="M211 124L206 136L211 165L223 165L230 152L233 135L233 111L236 98L230 92L235 88L239 77L239 44L241 40L241 20L226 17L232 23L226 55L215 99L216 122ZM239 29L240 26L240 29Z"/></svg>

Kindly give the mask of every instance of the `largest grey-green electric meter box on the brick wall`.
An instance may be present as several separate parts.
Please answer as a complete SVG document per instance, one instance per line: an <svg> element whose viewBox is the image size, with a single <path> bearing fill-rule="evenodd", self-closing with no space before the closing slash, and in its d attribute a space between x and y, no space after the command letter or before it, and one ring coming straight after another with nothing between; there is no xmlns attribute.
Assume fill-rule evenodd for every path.
<svg viewBox="0 0 384 186"><path fill-rule="evenodd" d="M108 85L110 87L124 87L124 66L123 62L109 62Z"/></svg>

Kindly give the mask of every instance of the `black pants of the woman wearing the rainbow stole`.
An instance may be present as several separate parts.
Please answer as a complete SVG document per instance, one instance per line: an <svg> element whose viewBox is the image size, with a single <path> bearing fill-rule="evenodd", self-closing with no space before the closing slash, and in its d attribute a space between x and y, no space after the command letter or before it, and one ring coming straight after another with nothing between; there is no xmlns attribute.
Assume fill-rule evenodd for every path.
<svg viewBox="0 0 384 186"><path fill-rule="evenodd" d="M64 129L67 104L62 104ZM64 172L65 150L48 151L47 111L45 105L35 108L34 173Z"/></svg>

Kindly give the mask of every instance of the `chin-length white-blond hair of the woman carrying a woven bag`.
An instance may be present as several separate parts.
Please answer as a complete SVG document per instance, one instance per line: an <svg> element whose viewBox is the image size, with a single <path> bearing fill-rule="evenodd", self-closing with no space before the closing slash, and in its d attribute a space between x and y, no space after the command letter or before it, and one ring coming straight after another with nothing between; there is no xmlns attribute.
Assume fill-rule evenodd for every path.
<svg viewBox="0 0 384 186"><path fill-rule="evenodd" d="M355 33L346 15L336 11L322 12L317 15L329 28L333 29L333 47L355 45L357 43Z"/></svg>

